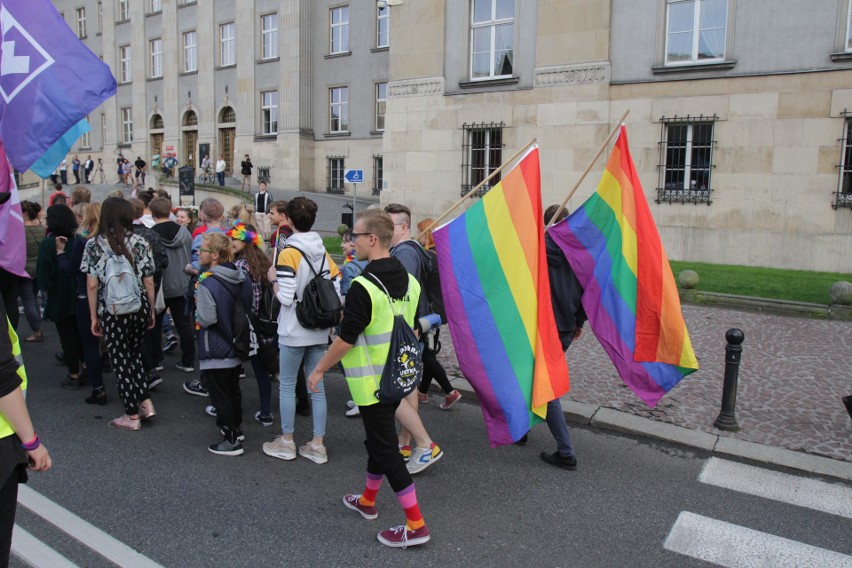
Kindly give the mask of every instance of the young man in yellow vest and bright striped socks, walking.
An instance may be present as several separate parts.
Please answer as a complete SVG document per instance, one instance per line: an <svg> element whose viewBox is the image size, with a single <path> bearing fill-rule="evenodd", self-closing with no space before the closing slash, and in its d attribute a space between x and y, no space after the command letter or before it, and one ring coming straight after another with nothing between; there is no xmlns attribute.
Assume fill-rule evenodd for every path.
<svg viewBox="0 0 852 568"><path fill-rule="evenodd" d="M376 498L386 477L405 512L405 524L383 530L377 538L385 546L405 548L425 544L431 538L420 512L414 481L397 446L394 416L400 406L408 403L382 402L376 398L381 371L366 370L374 365L383 366L387 360L390 339L381 338L391 335L395 313L402 311L408 325L413 326L416 321L419 285L399 260L390 255L393 231L393 220L384 211L368 209L359 214L352 238L357 258L369 264L349 289L340 335L308 376L308 387L316 390L324 373L343 361L352 399L361 410L367 448L364 490L361 494L344 495L343 504L365 519L375 519ZM382 288L387 290L394 305Z"/></svg>

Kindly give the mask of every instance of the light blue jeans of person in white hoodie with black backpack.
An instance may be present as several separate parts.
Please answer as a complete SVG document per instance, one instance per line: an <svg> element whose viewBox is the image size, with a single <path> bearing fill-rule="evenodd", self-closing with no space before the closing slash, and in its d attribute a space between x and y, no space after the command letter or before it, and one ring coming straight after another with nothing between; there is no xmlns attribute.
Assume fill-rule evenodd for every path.
<svg viewBox="0 0 852 568"><path fill-rule="evenodd" d="M305 362L305 375L310 375L319 360L325 354L327 345L308 345L304 347L289 347L278 345L280 380L278 400L281 406L281 432L292 434L296 424L296 377L302 360ZM325 436L325 423L328 416L328 404L325 400L325 384L317 384L319 392L308 391L311 396L311 418L314 422L313 435Z"/></svg>

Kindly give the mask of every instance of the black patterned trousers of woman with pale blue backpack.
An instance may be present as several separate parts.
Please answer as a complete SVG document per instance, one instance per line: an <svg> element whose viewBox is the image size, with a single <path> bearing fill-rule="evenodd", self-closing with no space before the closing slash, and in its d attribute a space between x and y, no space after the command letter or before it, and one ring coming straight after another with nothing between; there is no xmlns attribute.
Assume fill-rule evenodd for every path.
<svg viewBox="0 0 852 568"><path fill-rule="evenodd" d="M106 313L101 319L118 395L128 415L137 414L139 403L150 398L140 352L150 318L151 308L143 301L142 309L136 313L123 316Z"/></svg>

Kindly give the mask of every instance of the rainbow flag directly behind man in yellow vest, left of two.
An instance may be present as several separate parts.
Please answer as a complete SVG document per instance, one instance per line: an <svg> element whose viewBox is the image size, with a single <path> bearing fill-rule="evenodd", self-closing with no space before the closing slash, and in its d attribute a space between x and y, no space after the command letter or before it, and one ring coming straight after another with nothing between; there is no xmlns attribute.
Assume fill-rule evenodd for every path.
<svg viewBox="0 0 852 568"><path fill-rule="evenodd" d="M459 367L491 446L510 444L569 388L550 300L538 147L433 237Z"/></svg>

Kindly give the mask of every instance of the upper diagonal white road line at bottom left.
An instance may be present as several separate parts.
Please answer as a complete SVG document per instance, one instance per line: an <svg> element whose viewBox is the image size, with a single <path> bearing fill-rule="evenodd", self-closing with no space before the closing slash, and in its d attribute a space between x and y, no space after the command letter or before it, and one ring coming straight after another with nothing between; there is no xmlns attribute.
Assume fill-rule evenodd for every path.
<svg viewBox="0 0 852 568"><path fill-rule="evenodd" d="M26 485L18 486L18 503L114 564L132 568L163 568Z"/></svg>

